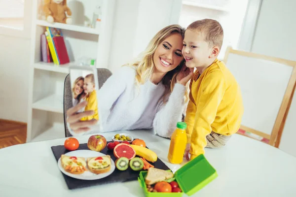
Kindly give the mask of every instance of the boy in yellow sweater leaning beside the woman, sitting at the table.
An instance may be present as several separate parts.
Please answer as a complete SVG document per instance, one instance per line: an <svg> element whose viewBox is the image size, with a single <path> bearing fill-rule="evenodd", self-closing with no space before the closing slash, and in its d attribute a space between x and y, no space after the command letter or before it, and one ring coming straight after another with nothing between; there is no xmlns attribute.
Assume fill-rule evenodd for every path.
<svg viewBox="0 0 296 197"><path fill-rule="evenodd" d="M223 29L212 19L195 21L185 31L182 53L186 66L196 68L185 116L187 160L188 152L192 160L204 154L205 147L224 146L240 127L243 114L240 87L217 59L222 41Z"/></svg>

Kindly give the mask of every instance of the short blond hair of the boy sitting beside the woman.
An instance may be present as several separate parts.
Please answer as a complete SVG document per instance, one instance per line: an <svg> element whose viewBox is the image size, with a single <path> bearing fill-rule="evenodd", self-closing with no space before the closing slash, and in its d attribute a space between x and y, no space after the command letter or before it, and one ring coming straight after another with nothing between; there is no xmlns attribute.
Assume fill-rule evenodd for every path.
<svg viewBox="0 0 296 197"><path fill-rule="evenodd" d="M224 33L218 21L213 19L194 21L187 29L201 33L204 36L204 40L209 44L209 47L218 46L221 49Z"/></svg>

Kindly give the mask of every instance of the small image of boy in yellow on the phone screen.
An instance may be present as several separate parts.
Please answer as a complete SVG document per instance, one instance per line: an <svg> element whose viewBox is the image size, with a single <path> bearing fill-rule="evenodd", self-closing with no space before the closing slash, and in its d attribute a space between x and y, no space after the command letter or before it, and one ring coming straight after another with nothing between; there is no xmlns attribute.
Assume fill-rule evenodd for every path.
<svg viewBox="0 0 296 197"><path fill-rule="evenodd" d="M94 114L91 116L86 116L81 118L81 121L96 119L99 120L98 114L98 101L97 94L95 90L95 79L93 74L88 74L84 77L83 84L84 93L86 94L85 100L87 105L85 106L85 111L93 110Z"/></svg>

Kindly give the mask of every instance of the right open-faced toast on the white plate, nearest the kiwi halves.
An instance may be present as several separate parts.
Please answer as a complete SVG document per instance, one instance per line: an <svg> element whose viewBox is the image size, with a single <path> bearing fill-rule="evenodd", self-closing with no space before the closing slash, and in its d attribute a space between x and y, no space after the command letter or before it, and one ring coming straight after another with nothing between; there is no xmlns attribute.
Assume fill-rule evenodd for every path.
<svg viewBox="0 0 296 197"><path fill-rule="evenodd" d="M95 174L109 172L111 170L110 155L87 158L87 167L89 171Z"/></svg>

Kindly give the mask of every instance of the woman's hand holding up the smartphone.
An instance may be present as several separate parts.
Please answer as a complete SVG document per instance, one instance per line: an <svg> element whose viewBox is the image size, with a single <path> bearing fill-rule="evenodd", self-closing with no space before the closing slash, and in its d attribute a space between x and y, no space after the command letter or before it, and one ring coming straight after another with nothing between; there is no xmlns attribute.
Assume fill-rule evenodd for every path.
<svg viewBox="0 0 296 197"><path fill-rule="evenodd" d="M80 109L85 107L87 104L86 101L80 102L74 107L71 107L67 111L67 123L70 124L70 128L75 133L86 132L90 130L90 126L97 124L98 120L88 120L88 121L80 121L81 118L85 116L90 116L94 114L93 110L84 111L77 113Z"/></svg>

